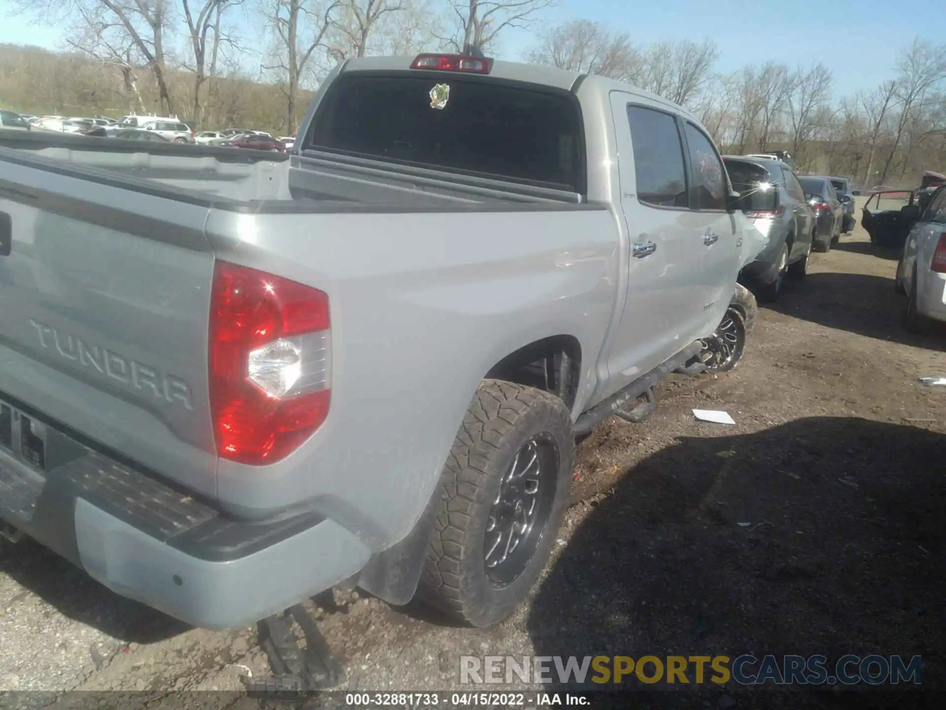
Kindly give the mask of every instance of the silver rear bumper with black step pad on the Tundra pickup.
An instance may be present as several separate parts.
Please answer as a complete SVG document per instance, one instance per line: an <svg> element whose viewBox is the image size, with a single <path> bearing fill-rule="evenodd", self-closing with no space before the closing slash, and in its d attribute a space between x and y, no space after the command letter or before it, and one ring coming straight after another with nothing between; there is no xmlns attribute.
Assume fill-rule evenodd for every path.
<svg viewBox="0 0 946 710"><path fill-rule="evenodd" d="M370 553L312 512L264 522L218 510L99 453L0 395L0 519L115 593L194 626L252 624L351 577ZM44 466L26 463L20 422L37 423ZM6 430L4 430L6 431Z"/></svg>

